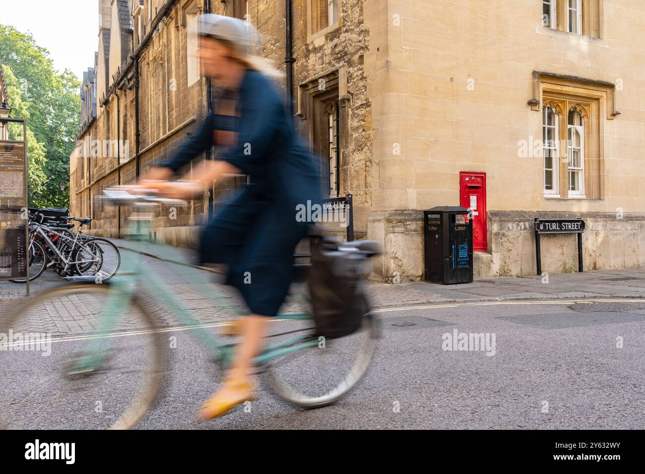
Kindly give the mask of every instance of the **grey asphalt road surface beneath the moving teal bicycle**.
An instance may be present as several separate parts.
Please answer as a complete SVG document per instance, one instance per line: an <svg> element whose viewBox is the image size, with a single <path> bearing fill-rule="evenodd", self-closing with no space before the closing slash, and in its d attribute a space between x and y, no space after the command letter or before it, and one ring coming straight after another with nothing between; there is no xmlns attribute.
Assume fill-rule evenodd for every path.
<svg viewBox="0 0 645 474"><path fill-rule="evenodd" d="M261 382L259 400L204 424L194 415L222 371L189 331L164 332L164 390L137 428L645 428L645 302L444 304L377 317L381 339L370 371L339 402L304 410ZM279 332L284 323L272 324ZM489 344L446 350L460 347L448 341L455 331L457 342L461 333L484 333ZM110 370L81 378L71 391L52 368L87 344L82 337L54 342L50 357L0 353L7 388L0 416L11 428L101 428L114 421L152 360L142 350L152 336L127 334L112 337ZM332 380L340 367L333 361L341 359L313 366L301 357L284 367L294 380L315 385Z"/></svg>

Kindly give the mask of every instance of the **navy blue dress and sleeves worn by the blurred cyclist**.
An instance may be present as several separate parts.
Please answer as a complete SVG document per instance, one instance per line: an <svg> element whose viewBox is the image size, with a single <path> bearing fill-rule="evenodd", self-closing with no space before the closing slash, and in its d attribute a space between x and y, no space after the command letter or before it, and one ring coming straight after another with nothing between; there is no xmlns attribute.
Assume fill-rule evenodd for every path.
<svg viewBox="0 0 645 474"><path fill-rule="evenodd" d="M311 224L297 219L297 206L321 200L319 166L264 75L246 72L239 104L237 143L218 159L250 176L251 184L204 228L201 263L226 264L227 282L241 292L250 312L275 316L293 279L293 251ZM213 132L222 129L226 126L210 114L200 132L161 166L177 172L209 149Z"/></svg>

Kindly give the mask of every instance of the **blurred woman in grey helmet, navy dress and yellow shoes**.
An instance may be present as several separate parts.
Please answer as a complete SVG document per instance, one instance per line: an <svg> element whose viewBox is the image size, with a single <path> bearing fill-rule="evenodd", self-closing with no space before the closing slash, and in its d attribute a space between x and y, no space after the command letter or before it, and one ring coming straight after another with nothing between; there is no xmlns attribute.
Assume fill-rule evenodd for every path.
<svg viewBox="0 0 645 474"><path fill-rule="evenodd" d="M261 350L267 318L284 302L295 246L308 228L307 222L297 221L295 209L319 201L321 183L315 158L297 137L272 84L275 71L253 54L257 30L231 17L200 18L199 57L204 74L224 91L221 107L173 159L152 168L143 184L191 199L226 175L250 177L249 186L208 223L201 238L201 263L226 266L227 282L239 290L249 312L239 319L241 341L223 386L199 413L206 420L256 396L252 360ZM226 104L232 115L223 114ZM169 179L211 146L222 145L228 148L217 159L194 170L197 181L157 181Z"/></svg>

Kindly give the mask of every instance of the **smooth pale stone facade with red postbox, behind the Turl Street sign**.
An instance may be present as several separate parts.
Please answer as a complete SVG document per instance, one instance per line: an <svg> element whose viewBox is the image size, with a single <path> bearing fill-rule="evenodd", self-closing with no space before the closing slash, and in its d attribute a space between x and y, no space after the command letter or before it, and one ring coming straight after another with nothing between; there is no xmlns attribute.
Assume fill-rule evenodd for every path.
<svg viewBox="0 0 645 474"><path fill-rule="evenodd" d="M535 217L585 219L585 270L645 264L645 3L368 0L363 11L379 275L421 277L419 210L470 207L473 177L485 200L475 275L535 274ZM543 237L542 259L547 272L577 268L575 237Z"/></svg>

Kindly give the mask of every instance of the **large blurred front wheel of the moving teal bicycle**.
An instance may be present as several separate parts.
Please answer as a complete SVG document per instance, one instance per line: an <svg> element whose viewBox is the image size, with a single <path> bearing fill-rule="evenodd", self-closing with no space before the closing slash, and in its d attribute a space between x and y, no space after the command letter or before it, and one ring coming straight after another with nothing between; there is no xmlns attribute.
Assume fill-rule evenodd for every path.
<svg viewBox="0 0 645 474"><path fill-rule="evenodd" d="M144 307L110 284L39 293L0 316L0 426L126 429L154 402L162 333Z"/></svg>

